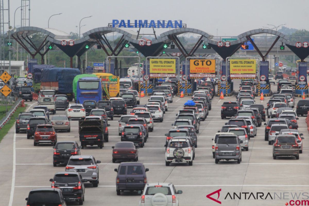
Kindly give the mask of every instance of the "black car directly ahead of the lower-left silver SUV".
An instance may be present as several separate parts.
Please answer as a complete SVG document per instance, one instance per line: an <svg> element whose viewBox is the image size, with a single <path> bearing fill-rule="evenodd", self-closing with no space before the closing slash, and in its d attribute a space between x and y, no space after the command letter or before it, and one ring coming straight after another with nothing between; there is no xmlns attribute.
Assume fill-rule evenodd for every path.
<svg viewBox="0 0 309 206"><path fill-rule="evenodd" d="M80 150L76 141L58 141L53 146L53 166L64 163L67 164L72 155L80 155Z"/></svg>

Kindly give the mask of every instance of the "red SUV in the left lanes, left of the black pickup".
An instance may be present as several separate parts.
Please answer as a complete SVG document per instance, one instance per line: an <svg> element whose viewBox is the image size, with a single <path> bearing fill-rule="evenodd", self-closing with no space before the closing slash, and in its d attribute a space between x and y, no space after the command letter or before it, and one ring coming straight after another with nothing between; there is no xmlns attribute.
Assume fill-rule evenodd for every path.
<svg viewBox="0 0 309 206"><path fill-rule="evenodd" d="M36 127L36 132L34 132L33 145L46 143L56 145L57 133L52 125L40 124Z"/></svg>

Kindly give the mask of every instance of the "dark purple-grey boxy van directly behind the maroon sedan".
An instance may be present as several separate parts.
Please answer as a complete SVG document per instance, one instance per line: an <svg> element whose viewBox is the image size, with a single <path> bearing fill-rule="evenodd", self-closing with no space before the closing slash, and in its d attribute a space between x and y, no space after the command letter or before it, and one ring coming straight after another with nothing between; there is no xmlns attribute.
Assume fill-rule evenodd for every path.
<svg viewBox="0 0 309 206"><path fill-rule="evenodd" d="M114 169L114 171L117 172L117 195L121 195L121 191L142 191L147 183L146 172L149 169L145 169L143 163L121 162L118 169Z"/></svg>

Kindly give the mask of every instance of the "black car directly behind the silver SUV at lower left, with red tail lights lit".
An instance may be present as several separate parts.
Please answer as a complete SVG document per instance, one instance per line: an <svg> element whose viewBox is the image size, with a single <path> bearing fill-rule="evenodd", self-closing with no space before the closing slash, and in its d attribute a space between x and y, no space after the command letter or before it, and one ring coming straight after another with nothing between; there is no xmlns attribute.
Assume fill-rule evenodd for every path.
<svg viewBox="0 0 309 206"><path fill-rule="evenodd" d="M52 182L52 188L61 188L65 201L78 201L80 205L85 200L85 186L84 182L87 179L82 178L78 172L57 172Z"/></svg>

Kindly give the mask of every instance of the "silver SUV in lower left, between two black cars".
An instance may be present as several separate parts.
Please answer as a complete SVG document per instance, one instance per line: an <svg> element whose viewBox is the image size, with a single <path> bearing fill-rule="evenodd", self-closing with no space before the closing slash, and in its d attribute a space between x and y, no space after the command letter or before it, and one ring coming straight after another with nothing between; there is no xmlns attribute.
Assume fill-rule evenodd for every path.
<svg viewBox="0 0 309 206"><path fill-rule="evenodd" d="M99 184L99 166L101 161L95 161L92 155L72 155L66 165L67 172L79 172L83 181L92 183L93 187Z"/></svg>

